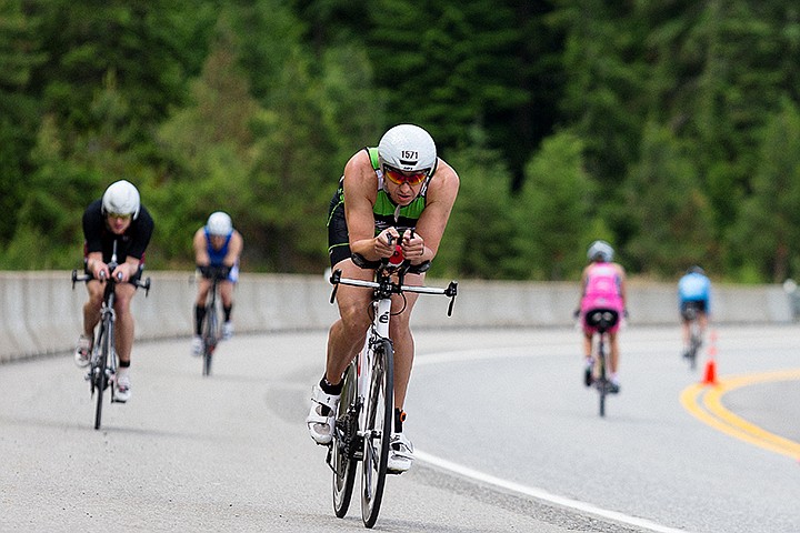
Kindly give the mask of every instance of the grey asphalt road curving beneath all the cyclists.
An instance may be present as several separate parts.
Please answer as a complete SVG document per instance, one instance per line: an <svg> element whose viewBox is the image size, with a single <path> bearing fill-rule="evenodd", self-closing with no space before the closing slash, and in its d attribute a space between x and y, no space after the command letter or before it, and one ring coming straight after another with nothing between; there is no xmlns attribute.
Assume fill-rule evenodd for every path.
<svg viewBox="0 0 800 533"><path fill-rule="evenodd" d="M418 331L419 459L389 479L376 530L797 531L800 329L717 333L711 386L677 328L628 328L600 419L574 330ZM324 340L240 335L210 378L188 339L139 343L132 399L100 431L69 354L0 365L0 531L363 530L357 499L333 516L304 430Z"/></svg>

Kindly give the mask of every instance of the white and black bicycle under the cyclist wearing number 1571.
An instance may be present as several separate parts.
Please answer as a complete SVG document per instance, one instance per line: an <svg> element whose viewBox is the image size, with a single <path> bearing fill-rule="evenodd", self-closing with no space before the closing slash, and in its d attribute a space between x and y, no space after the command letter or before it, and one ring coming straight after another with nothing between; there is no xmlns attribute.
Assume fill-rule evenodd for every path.
<svg viewBox="0 0 800 533"><path fill-rule="evenodd" d="M448 315L451 315L458 283L452 281L447 289L403 284L407 273L422 273L430 262L421 265L411 265L409 261L392 264L386 259L369 262L358 254L353 262L363 269L376 269L374 281L347 279L341 276L341 270L334 271L330 278L331 303L339 284L372 289L372 325L364 348L344 372L327 462L333 471L333 511L340 519L350 506L356 467L361 462L361 517L364 526L372 527L383 497L394 412L394 348L389 338L391 298L404 292L444 294L450 296ZM393 275L397 281L392 281Z"/></svg>

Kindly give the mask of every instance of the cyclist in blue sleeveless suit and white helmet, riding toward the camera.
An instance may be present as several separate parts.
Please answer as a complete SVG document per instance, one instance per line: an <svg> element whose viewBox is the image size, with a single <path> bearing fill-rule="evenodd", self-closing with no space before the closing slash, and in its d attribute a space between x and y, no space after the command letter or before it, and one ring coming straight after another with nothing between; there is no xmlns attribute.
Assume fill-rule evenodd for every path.
<svg viewBox="0 0 800 533"><path fill-rule="evenodd" d="M194 232L192 241L194 248L194 262L200 278L198 281L197 299L194 300L194 335L192 336L192 354L202 355L203 343L201 332L206 318L206 299L211 289L210 268L223 266L228 269L226 279L219 284L219 294L222 300L222 338L233 335L231 311L233 309L233 285L239 280L239 259L244 240L241 233L233 229L228 213L217 211L211 213L204 227Z"/></svg>

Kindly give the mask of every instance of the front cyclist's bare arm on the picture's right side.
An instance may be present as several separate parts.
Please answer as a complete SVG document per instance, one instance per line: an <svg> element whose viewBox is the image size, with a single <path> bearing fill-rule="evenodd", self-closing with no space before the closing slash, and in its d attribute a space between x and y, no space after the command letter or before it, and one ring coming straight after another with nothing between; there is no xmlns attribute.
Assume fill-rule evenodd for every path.
<svg viewBox="0 0 800 533"><path fill-rule="evenodd" d="M439 251L439 244L447 228L459 190L459 177L448 163L439 160L426 195L426 207L417 221L417 234L423 239L422 255L411 254L413 264L431 261Z"/></svg>

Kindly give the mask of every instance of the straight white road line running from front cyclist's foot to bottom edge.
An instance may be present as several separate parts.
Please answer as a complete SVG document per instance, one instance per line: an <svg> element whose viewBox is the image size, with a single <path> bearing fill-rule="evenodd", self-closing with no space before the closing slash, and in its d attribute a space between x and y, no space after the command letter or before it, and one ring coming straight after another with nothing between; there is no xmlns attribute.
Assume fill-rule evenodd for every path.
<svg viewBox="0 0 800 533"><path fill-rule="evenodd" d="M430 455L420 450L414 450L414 457L424 463L437 466L439 469L450 471L454 474L459 474L464 477L469 477L469 479L472 479L476 481L480 481L482 483L494 485L500 489L504 489L507 491L517 492L519 494L524 494L526 496L532 496L538 500L543 500L546 502L554 503L557 505L561 505L564 507L574 509L577 511L581 511L584 513L591 513L597 516L601 516L603 519L613 520L613 521L633 525L637 527L643 527L646 530L656 531L659 533L688 533L687 530L668 527L666 525L657 524L656 522L651 522L646 519L639 519L637 516L629 516L627 514L619 513L617 511L609 511L609 510L606 510L602 507L598 507L597 505L592 505L591 503L586 503L586 502L572 500L569 497L559 496L557 494L549 493L542 489L537 489L533 486L526 486L520 483L514 483L514 482L508 481L508 480L501 480L500 477L496 477L493 475L484 474L483 472L479 472L477 470L472 470L470 467L467 467L467 466L463 466L460 464L456 464L446 459L437 457L436 455Z"/></svg>

